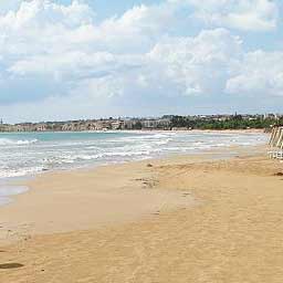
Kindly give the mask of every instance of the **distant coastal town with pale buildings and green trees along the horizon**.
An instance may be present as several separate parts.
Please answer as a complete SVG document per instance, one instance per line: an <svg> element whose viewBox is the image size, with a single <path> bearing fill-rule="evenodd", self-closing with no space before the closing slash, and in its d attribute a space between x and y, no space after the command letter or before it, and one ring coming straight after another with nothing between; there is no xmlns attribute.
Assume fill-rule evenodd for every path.
<svg viewBox="0 0 283 283"><path fill-rule="evenodd" d="M256 115L165 115L156 118L101 118L66 122L41 122L6 124L0 122L0 132L85 132L85 130L132 130L132 129L249 129L270 128L283 125L283 114Z"/></svg>

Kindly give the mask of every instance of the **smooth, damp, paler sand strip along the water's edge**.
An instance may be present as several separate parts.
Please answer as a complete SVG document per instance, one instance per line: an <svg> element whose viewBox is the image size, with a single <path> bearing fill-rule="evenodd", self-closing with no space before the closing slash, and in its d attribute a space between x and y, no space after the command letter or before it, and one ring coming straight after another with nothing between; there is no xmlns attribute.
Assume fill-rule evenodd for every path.
<svg viewBox="0 0 283 283"><path fill-rule="evenodd" d="M21 193L11 195L9 197L11 201L0 206L0 223L2 223L2 230L0 229L0 245L1 241L2 243L19 241L24 239L27 234L50 234L54 232L57 233L73 230L94 229L104 227L105 224L112 226L115 223L117 224L135 221L143 219L144 217L150 217L150 214L160 211L161 207L165 206L172 210L178 209L179 206L193 207L197 205L197 201L193 199L193 197L188 198L189 200L186 199L188 202L185 203L182 201L184 196L178 192L175 193L171 191L151 190L156 187L156 184L158 184L157 177L154 175L156 166L176 163L187 164L188 161L197 164L203 161L229 160L239 156L248 157L256 155L256 151L262 151L263 148L264 146L259 145L217 147L213 149L203 150L201 153L179 153L146 160L133 160L120 164L107 164L95 167L74 168L70 170L50 170L36 174L32 177L27 176L27 178L20 178L20 180L8 181L8 187L28 188L28 190L24 190ZM115 185L113 186L109 184L108 178L117 178L115 174L116 171L119 172L118 177L120 177L120 180L115 180ZM90 181L92 181L91 185L87 184ZM85 190L80 192L76 187L82 186L84 182L87 184L85 186ZM104 212L102 212L101 207L97 211L92 210L91 207L93 203L87 200L87 198L93 198L95 203L97 199L103 200L102 197L104 197L104 191L97 189L99 186L103 189L106 189L106 200L109 198L109 196L111 198L114 197L114 199L111 199L111 202L120 201L119 196L125 191L128 193L128 200L126 199L126 201L133 201L134 203L137 203L142 198L140 209L136 211L137 213L133 213L133 210L135 211L136 208L130 207L128 210L124 210L123 206L118 206L114 209L112 217L115 219L115 214L120 211L123 212L122 216L116 218L114 221L108 220L109 216L107 214L107 209L104 210ZM72 187L72 189L69 187ZM92 188L94 188L94 191L92 191ZM57 196L60 197L61 193L63 196L65 195L70 197L69 203L65 203L65 197L59 198L57 202L54 201L54 198L57 198ZM77 206L81 206L81 209L84 210L83 205L87 205L90 210L82 211L81 213L85 213L87 216L92 214L93 223L86 220L82 214L78 217L76 212L74 214L70 213L72 212L72 208L76 206L76 200L73 199L72 195L75 197L82 197L81 201L83 203L77 203ZM117 197L117 199L115 199L115 197ZM164 202L164 199L167 199L167 202ZM125 201L125 199L122 198L122 201ZM41 211L41 209L44 207L46 211L50 212L49 208L52 206L54 207L55 202L57 205L56 210L59 213L62 209L62 203L67 206L64 209L66 209L69 213L61 218L61 222L59 221L57 223L53 223L53 221L49 221L49 216L46 213L36 214L36 212ZM101 206L99 201L97 202L98 203L96 205ZM147 202L150 203L150 208L148 208ZM112 205L113 203L111 203L111 206ZM111 206L108 206L108 208ZM22 211L25 213L22 214ZM98 213L98 217L96 217L95 213ZM104 217L104 214L106 217ZM77 224L72 224L70 219L75 219L76 217ZM27 219L29 219L29 221L27 221ZM22 227L24 227L24 229L22 229ZM11 239L7 241L7 239L3 240L3 231L8 230L18 231L15 232L17 237L12 235ZM20 237L18 237L19 234Z"/></svg>

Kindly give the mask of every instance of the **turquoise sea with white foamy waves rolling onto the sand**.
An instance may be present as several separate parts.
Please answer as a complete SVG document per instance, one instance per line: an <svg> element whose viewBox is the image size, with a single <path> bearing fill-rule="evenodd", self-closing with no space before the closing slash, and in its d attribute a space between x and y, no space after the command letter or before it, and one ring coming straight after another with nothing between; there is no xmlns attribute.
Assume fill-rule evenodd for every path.
<svg viewBox="0 0 283 283"><path fill-rule="evenodd" d="M0 205L25 187L8 181L50 170L70 170L108 164L198 154L229 146L266 143L260 133L219 132L83 132L0 134Z"/></svg>

